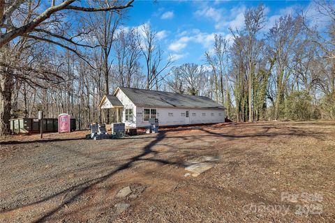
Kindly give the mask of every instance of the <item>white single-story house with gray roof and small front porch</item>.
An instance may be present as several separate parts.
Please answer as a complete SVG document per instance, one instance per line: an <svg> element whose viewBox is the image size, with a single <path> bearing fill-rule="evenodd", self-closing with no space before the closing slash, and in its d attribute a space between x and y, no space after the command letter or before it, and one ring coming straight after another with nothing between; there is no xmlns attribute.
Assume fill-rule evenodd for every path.
<svg viewBox="0 0 335 223"><path fill-rule="evenodd" d="M133 128L149 125L149 118L158 118L160 126L225 122L225 108L214 100L165 91L118 87L99 107L116 109L117 120Z"/></svg>

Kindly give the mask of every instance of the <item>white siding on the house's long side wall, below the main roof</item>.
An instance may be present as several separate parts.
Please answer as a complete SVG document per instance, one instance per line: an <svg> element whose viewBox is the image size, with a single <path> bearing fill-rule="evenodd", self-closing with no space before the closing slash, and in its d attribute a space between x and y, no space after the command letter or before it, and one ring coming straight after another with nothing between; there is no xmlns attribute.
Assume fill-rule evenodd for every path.
<svg viewBox="0 0 335 223"><path fill-rule="evenodd" d="M136 127L144 127L149 125L147 121L143 121L144 108L155 109L155 107L137 107ZM174 109L160 107L156 109L159 125L187 125L188 123L186 122L186 110L189 111L190 124L225 122L224 109ZM183 116L181 115L181 113L183 113ZM195 116L193 116L192 114L195 114ZM202 114L205 114L205 116L202 116ZM211 116L211 114L213 114L213 116ZM219 114L221 114L221 116Z"/></svg>

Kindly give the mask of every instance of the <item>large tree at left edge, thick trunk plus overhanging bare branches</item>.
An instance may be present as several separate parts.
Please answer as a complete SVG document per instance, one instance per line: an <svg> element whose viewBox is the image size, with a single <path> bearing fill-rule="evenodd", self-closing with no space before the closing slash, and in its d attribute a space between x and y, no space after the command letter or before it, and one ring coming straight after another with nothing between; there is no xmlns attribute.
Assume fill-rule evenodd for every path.
<svg viewBox="0 0 335 223"><path fill-rule="evenodd" d="M72 36L67 35L72 30L68 29L70 23L64 22L64 16L68 15L67 12L81 11L89 13L121 10L131 7L133 0L126 3L110 1L103 7L99 6L96 1L92 3L94 4L86 7L80 6L80 1L78 0L62 1L59 4L51 1L50 7L45 8L45 4L39 0L8 2L0 0L0 134L8 132L11 108L10 89L13 88L14 84L14 70L17 70L17 66L21 66L20 63L16 63L14 68L10 62L18 61L17 59L20 58L20 54L24 50L22 47L13 50L13 47L17 43L22 43L22 46L27 40L34 39L59 45L84 59L77 47L90 47L81 42L82 36L87 35L87 33L80 31ZM19 39L12 43L12 40L16 38ZM16 52L13 57L15 60L10 60L9 55L13 55L13 52ZM24 68L21 67L20 69Z"/></svg>

